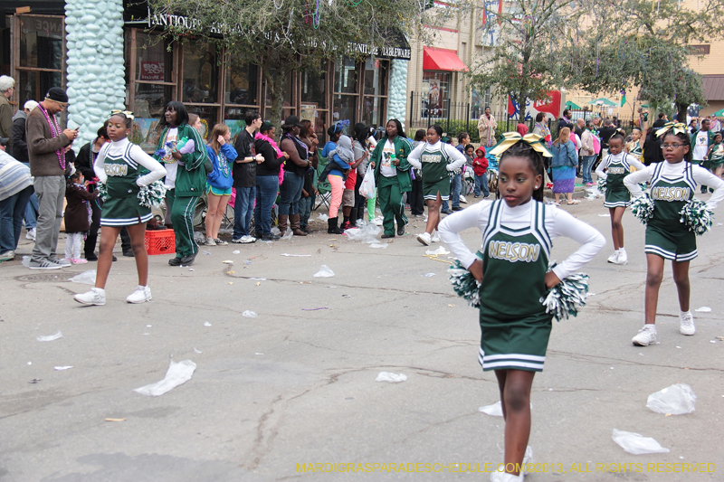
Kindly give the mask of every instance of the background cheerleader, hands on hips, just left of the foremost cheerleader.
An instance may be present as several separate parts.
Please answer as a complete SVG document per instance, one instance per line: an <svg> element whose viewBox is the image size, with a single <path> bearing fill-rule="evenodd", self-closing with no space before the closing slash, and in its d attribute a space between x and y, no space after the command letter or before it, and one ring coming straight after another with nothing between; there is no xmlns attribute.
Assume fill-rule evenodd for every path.
<svg viewBox="0 0 724 482"><path fill-rule="evenodd" d="M435 233L440 223L440 206L450 199L450 174L460 169L467 160L455 147L440 141L443 128L433 126L427 129L427 142L415 147L407 156L407 162L423 171L423 196L427 204L427 226L417 241L425 246L438 242Z"/></svg>

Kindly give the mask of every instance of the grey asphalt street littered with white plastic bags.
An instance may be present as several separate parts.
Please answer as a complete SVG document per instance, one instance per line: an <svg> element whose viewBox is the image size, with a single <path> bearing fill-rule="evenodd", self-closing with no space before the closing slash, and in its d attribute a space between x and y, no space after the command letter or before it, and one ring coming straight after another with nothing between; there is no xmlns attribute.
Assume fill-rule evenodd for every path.
<svg viewBox="0 0 724 482"><path fill-rule="evenodd" d="M615 266L603 200L561 209L607 245L584 269L588 306L554 322L535 377L537 465L526 480L724 480L724 226L699 239L691 262L691 308L711 308L694 313L696 335L679 334L667 264L660 344L639 347L643 225L624 215L629 263ZM26 269L23 237L18 259L0 264L0 480L488 480L504 423L479 408L499 400L497 383L477 362L477 312L452 292L449 265L415 241L423 226L413 219L385 249L315 221L306 238L201 247L190 268L152 256L153 301L142 305L125 301L136 268L118 245L104 307L72 299L90 287L69 279L95 263ZM462 236L481 243L480 232ZM552 257L575 249L558 239ZM321 265L334 277L314 278ZM134 392L172 360L196 364L191 380L157 397ZM380 372L407 380L376 382ZM696 411L646 407L673 383L691 385ZM670 452L628 454L614 429Z"/></svg>

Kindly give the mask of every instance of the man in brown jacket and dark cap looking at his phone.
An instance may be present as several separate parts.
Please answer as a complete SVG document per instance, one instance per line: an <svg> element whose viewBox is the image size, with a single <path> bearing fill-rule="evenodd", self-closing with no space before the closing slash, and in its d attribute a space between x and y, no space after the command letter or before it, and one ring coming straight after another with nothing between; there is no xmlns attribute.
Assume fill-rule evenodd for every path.
<svg viewBox="0 0 724 482"><path fill-rule="evenodd" d="M65 176L73 169L65 162L65 147L78 137L78 130L61 130L55 117L67 105L65 90L52 87L25 121L30 172L35 177L38 194L38 225L30 269L60 269L71 265L70 261L55 256L61 231Z"/></svg>

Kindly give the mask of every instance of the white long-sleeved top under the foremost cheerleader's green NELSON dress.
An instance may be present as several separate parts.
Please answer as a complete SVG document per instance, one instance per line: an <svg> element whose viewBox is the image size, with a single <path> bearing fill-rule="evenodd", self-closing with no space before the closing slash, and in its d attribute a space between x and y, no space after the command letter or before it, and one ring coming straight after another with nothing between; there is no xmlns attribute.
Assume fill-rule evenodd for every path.
<svg viewBox="0 0 724 482"><path fill-rule="evenodd" d="M492 201L481 201L464 210L447 216L440 222L440 236L448 245L452 254L460 260L462 266L470 268L478 258L462 242L459 232L467 229L478 228L481 233L488 227L491 213ZM530 210L533 209L536 201L510 207L503 202L501 223L511 230L527 228L530 225ZM580 269L588 261L593 260L595 255L605 246L603 234L595 228L574 218L569 213L558 209L556 206L546 205L546 231L551 241L559 236L565 236L573 241L581 243L581 247L562 263L558 263L553 272L558 279L564 279Z"/></svg>

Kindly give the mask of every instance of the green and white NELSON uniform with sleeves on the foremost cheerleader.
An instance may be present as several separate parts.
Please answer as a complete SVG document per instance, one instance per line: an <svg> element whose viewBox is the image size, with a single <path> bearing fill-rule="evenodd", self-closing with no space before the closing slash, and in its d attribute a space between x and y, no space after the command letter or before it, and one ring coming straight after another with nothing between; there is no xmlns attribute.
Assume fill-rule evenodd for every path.
<svg viewBox="0 0 724 482"><path fill-rule="evenodd" d="M539 372L546 361L551 315L540 303L555 238L582 246L553 271L564 279L605 245L600 232L555 206L530 200L511 208L505 201L481 201L440 222L440 235L455 258L470 267L477 258L459 232L478 228L482 238L481 348L483 370Z"/></svg>

